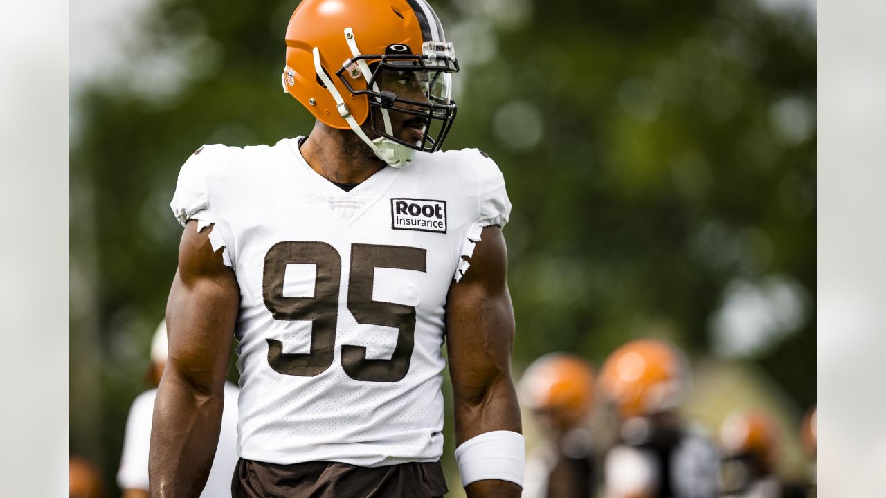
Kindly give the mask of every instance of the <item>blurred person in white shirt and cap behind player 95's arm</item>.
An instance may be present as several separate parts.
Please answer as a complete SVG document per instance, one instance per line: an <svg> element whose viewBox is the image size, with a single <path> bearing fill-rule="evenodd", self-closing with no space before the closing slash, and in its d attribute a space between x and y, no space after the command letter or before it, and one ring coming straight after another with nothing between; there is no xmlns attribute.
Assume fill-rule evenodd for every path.
<svg viewBox="0 0 886 498"><path fill-rule="evenodd" d="M123 498L143 498L148 494L148 452L151 443L151 423L154 411L154 398L157 396L157 385L163 377L167 363L167 329L166 320L159 323L151 340L151 363L148 372L152 389L141 393L132 402L126 420L126 434L123 439L123 455L120 457L120 471L117 472L117 484ZM225 382L224 410L221 416L221 433L219 445L215 451L212 470L206 487L203 488L204 498L230 496L230 479L234 475L237 464L237 397L239 389L236 385Z"/></svg>

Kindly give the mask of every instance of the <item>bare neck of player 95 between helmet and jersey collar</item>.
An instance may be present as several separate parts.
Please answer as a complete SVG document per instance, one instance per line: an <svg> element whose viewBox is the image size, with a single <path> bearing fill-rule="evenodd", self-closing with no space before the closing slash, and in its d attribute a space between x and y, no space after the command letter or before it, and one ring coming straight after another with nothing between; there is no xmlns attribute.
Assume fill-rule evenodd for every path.
<svg viewBox="0 0 886 498"><path fill-rule="evenodd" d="M346 133L354 134L349 129L318 124L301 144L301 155L311 169L330 182L361 183L384 168L385 163L371 155L371 151L367 154L366 145L357 136L357 140L350 140Z"/></svg>

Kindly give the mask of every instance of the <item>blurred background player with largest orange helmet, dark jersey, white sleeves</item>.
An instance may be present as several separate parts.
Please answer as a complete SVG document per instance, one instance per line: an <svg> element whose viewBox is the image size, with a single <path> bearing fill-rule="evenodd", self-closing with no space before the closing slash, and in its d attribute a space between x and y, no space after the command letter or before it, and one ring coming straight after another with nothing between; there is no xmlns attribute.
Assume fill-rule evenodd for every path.
<svg viewBox="0 0 886 498"><path fill-rule="evenodd" d="M618 419L603 463L606 498L717 495L717 452L678 412L688 382L683 354L662 341L634 340L610 354L598 389Z"/></svg>

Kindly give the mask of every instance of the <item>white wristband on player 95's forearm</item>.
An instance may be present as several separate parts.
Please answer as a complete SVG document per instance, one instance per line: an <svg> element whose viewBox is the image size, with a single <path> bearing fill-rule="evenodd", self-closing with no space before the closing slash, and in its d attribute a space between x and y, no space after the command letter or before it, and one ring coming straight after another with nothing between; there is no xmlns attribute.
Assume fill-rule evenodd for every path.
<svg viewBox="0 0 886 498"><path fill-rule="evenodd" d="M484 432L455 448L462 486L484 479L506 480L523 487L525 440L512 431Z"/></svg>

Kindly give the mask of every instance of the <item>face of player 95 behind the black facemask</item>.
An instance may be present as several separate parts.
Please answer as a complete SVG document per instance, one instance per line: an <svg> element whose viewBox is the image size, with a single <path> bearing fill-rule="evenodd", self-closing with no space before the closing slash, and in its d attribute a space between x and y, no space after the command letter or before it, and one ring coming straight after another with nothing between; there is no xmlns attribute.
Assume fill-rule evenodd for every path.
<svg viewBox="0 0 886 498"><path fill-rule="evenodd" d="M426 89L428 80L431 75L427 71L394 71L384 69L378 80L378 88L383 91L390 91L400 98L407 98L423 104L429 103L426 97ZM426 111L425 108L418 105L408 105L397 102L388 110L391 118L391 128L393 136L410 144L418 144L424 136L424 129L428 126L428 119L424 116L416 116L414 114L400 113L396 109L406 108L418 111ZM385 122L382 113L374 113L377 129L385 129Z"/></svg>

